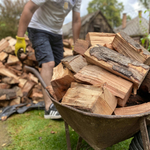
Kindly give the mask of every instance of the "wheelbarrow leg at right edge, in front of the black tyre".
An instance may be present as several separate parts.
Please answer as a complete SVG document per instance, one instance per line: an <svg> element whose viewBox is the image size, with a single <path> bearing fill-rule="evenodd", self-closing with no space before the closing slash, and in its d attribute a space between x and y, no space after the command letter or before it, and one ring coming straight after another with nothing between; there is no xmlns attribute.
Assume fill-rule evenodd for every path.
<svg viewBox="0 0 150 150"><path fill-rule="evenodd" d="M140 132L142 136L144 150L150 150L150 142L145 117L142 117L140 120Z"/></svg>

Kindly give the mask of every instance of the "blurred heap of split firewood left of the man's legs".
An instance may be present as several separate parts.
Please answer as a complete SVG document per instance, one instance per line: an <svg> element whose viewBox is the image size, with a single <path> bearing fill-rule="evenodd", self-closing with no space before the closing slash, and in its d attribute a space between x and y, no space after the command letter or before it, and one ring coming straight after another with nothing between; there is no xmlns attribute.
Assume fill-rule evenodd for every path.
<svg viewBox="0 0 150 150"><path fill-rule="evenodd" d="M27 54L21 55L23 64L15 56L16 39L0 41L0 108L20 103L43 101L41 84L32 73L23 71L23 64L38 69L34 50L26 38Z"/></svg>

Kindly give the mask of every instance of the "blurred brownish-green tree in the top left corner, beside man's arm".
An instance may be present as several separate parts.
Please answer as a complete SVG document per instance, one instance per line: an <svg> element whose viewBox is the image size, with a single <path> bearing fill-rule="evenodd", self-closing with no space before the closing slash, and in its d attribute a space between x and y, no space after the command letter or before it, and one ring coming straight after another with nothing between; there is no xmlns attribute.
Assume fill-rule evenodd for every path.
<svg viewBox="0 0 150 150"><path fill-rule="evenodd" d="M20 15L27 0L2 0L0 3L0 39L15 37Z"/></svg>

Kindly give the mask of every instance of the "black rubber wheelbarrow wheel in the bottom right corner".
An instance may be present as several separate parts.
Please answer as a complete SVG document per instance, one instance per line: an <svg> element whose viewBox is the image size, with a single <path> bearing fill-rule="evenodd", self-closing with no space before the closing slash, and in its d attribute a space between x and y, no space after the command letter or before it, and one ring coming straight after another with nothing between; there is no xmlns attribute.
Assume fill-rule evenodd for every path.
<svg viewBox="0 0 150 150"><path fill-rule="evenodd" d="M147 126L147 131L150 138L150 126ZM129 150L144 150L140 131L134 135L134 138L130 143Z"/></svg>

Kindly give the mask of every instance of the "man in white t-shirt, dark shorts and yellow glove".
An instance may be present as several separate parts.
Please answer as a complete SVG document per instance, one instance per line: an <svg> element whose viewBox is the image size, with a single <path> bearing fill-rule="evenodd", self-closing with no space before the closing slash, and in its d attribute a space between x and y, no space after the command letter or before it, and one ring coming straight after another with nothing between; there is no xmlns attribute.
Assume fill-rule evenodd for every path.
<svg viewBox="0 0 150 150"><path fill-rule="evenodd" d="M74 42L79 38L81 0L30 0L22 12L17 33L15 54L20 48L26 49L24 34L28 36L41 67L41 77L50 85L53 68L63 58L62 25L64 18L73 10L72 30ZM44 89L45 119L61 118Z"/></svg>

